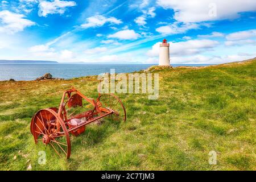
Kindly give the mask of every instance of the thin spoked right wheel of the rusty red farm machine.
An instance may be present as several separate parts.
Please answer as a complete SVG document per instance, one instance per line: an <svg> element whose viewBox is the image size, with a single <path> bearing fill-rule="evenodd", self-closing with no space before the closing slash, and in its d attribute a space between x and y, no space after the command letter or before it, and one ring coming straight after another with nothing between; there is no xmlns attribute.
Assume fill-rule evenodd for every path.
<svg viewBox="0 0 256 182"><path fill-rule="evenodd" d="M113 110L114 113L110 117L115 121L126 121L126 110L125 106L117 96L114 94L101 94L97 98L97 105L106 109Z"/></svg>

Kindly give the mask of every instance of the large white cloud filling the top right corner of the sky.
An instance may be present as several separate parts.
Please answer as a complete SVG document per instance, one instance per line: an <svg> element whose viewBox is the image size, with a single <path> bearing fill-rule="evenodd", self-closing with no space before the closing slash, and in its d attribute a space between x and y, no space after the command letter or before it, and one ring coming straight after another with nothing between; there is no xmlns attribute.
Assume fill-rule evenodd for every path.
<svg viewBox="0 0 256 182"><path fill-rule="evenodd" d="M239 13L256 10L255 0L158 0L157 3L164 9L173 9L177 21L190 23L233 19L239 17Z"/></svg>

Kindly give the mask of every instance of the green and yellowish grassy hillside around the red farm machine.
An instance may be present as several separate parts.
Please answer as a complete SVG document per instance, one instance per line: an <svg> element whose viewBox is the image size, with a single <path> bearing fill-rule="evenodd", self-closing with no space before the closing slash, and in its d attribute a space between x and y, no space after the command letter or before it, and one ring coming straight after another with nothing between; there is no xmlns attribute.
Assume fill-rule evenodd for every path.
<svg viewBox="0 0 256 182"><path fill-rule="evenodd" d="M256 59L204 68L151 68L159 73L159 98L118 94L127 121L105 121L71 137L71 159L35 145L32 115L59 106L75 86L97 98L96 77L0 82L0 169L26 170L255 170ZM38 164L38 152L47 162ZM209 152L217 152L210 165ZM16 156L16 157L15 157ZM16 158L16 159L15 159Z"/></svg>

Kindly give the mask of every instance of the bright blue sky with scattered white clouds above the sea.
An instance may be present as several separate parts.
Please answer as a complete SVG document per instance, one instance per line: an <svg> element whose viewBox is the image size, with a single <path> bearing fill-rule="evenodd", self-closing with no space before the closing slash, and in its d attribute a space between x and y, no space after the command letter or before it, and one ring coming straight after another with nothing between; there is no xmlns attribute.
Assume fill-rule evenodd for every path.
<svg viewBox="0 0 256 182"><path fill-rule="evenodd" d="M255 0L0 0L0 59L213 64L256 57Z"/></svg>

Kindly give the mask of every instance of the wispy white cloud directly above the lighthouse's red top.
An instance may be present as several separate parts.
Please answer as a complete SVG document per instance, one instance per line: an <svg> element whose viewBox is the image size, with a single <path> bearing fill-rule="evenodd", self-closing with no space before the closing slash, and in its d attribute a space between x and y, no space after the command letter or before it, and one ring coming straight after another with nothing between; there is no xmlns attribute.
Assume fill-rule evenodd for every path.
<svg viewBox="0 0 256 182"><path fill-rule="evenodd" d="M188 30L198 29L200 25L197 23L179 23L174 22L171 25L162 26L156 28L156 31L163 35L174 35L174 34L184 34Z"/></svg>

